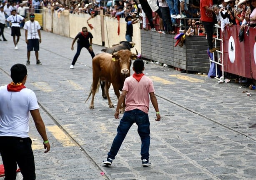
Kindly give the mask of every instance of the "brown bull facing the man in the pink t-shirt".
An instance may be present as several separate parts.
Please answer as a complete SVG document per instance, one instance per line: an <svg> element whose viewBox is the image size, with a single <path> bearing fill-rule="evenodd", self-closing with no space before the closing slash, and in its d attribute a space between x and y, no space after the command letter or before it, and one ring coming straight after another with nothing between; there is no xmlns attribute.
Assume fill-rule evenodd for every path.
<svg viewBox="0 0 256 180"><path fill-rule="evenodd" d="M100 79L105 80L105 95L108 98L108 105L113 108L108 89L110 84L113 85L115 95L117 98L120 96L120 91L123 89L123 83L126 77L130 76L131 60L136 59L136 54L125 49L115 52L113 54L108 54L102 52L93 58L93 83L91 85L90 94L86 101L92 94L92 100L90 103L90 109L94 109L94 96L96 91L99 89ZM86 102L85 101L85 102ZM123 103L123 108L120 107L120 111L123 112L125 104Z"/></svg>

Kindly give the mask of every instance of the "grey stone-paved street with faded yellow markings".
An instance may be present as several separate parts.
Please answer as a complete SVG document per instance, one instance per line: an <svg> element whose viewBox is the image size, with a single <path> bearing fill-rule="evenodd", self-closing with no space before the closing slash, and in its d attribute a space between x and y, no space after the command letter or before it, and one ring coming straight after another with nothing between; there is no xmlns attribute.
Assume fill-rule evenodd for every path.
<svg viewBox="0 0 256 180"><path fill-rule="evenodd" d="M8 42L0 42L1 85L10 82L8 74L13 64L25 64L27 60L24 31L21 33L18 50L14 49L9 30L5 30ZM82 49L75 69L69 69L75 55L75 50L70 49L72 39L41 33L39 59L43 64L36 65L31 53L26 83L42 106L40 112L52 145L51 152L44 154L31 124L30 136L37 139L33 145L38 180L251 180L256 177L256 132L250 128L256 124L256 91L235 83L218 84L207 76L181 74L151 63L145 64L144 73L153 79L162 117L160 122L154 121L151 105L153 165L141 167L141 142L134 125L112 166L104 166L101 161L107 156L119 120L114 118L115 109L108 107L100 92L95 96L95 109L89 109L90 99L84 103L92 82L90 54ZM102 47L93 45L93 49L98 52ZM252 96L246 96L244 90ZM116 104L113 89L110 97Z"/></svg>

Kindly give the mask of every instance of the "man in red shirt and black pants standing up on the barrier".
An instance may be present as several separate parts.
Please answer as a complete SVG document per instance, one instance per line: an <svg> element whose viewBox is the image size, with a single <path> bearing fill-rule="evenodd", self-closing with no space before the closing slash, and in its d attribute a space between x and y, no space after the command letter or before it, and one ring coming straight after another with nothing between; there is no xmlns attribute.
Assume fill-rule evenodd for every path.
<svg viewBox="0 0 256 180"><path fill-rule="evenodd" d="M219 47L213 47L213 0L200 0L201 21L206 31L207 42L211 53L219 50Z"/></svg>

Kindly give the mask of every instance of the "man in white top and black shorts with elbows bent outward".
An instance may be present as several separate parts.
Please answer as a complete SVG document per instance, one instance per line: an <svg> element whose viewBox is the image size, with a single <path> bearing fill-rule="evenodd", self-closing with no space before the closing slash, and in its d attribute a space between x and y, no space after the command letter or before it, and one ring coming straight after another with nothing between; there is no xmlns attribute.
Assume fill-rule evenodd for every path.
<svg viewBox="0 0 256 180"><path fill-rule="evenodd" d="M21 15L16 15L16 10L13 9L12 10L12 15L10 15L6 21L8 23L10 23L11 27L12 27L12 33L11 36L13 37L13 43L15 48L14 49L18 49L18 42L20 40L20 22L24 22L25 19L24 17L22 17ZM17 36L17 40L15 39L15 37Z"/></svg>

